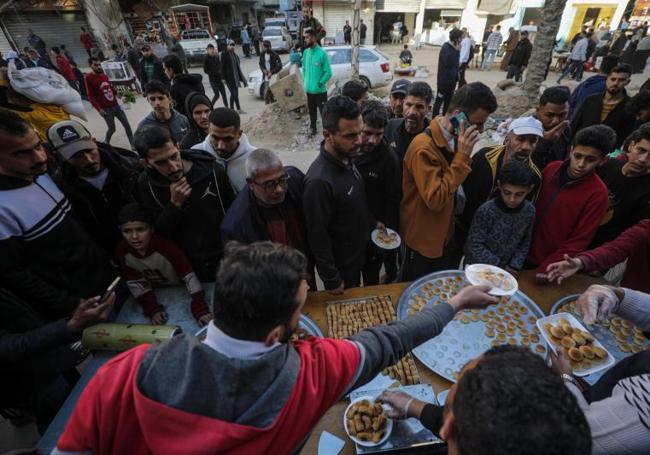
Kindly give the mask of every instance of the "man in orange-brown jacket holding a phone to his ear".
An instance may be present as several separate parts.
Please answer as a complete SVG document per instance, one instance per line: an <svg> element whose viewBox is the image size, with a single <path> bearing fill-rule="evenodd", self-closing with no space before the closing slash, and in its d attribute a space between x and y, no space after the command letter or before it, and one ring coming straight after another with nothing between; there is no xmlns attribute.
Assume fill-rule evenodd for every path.
<svg viewBox="0 0 650 455"><path fill-rule="evenodd" d="M434 118L411 142L402 179L406 251L400 281L458 267L460 255L451 242L456 191L471 171L472 150L496 108L485 84L467 84L454 94L447 114Z"/></svg>

